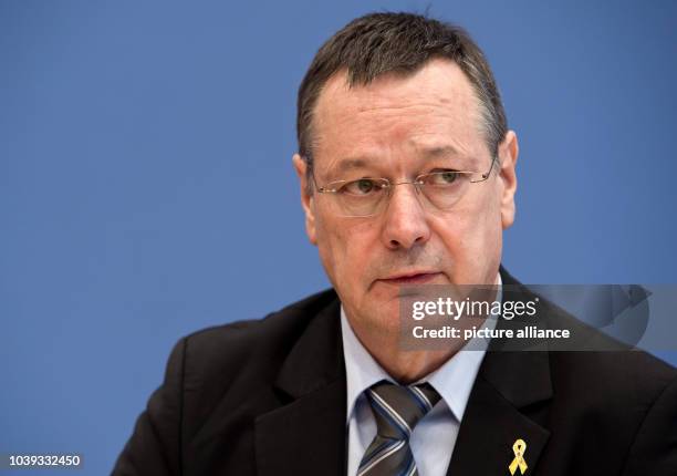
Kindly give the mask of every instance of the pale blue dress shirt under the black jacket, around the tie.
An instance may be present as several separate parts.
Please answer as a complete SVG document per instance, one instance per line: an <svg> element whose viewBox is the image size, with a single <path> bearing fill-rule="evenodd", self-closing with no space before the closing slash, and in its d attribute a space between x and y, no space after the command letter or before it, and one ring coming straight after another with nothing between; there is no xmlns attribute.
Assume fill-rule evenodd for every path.
<svg viewBox="0 0 677 476"><path fill-rule="evenodd" d="M500 276L498 277L500 284ZM500 289L500 288L499 288ZM501 293L497 300L501 300ZM496 327L496 315L485 327ZM364 391L373 384L395 380L362 345L341 307L341 330L347 384L347 474L357 474L364 452L376 435L376 422ZM428 382L441 399L414 428L409 445L420 476L445 476L456 444L458 428L468 404L472 384L485 358L488 340L472 349L460 350L439 369L419 382Z"/></svg>

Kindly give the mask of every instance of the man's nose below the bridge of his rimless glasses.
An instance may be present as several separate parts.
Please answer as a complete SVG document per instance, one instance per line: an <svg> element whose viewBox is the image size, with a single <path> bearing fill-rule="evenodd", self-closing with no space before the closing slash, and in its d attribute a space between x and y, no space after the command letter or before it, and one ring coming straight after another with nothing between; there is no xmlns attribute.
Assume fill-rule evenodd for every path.
<svg viewBox="0 0 677 476"><path fill-rule="evenodd" d="M430 238L426 213L412 184L393 187L384 220L382 239L389 249L410 249Z"/></svg>

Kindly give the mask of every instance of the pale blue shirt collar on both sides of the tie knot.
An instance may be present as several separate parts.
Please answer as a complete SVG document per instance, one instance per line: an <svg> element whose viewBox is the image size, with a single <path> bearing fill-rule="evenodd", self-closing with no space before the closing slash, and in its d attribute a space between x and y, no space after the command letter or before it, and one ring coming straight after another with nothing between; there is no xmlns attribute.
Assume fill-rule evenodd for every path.
<svg viewBox="0 0 677 476"><path fill-rule="evenodd" d="M502 300L501 276L498 275L497 282L499 293L497 301ZM487 319L485 327L493 329L496 327L496 318ZM379 364L374 360L372 354L364 348L362 342L353 332L353 329L345 315L343 304L341 306L341 333L343 339L343 355L345 360L346 373L346 391L347 391L347 414L346 422L355 408L357 399L362 393L374 385L375 383L387 380L395 383L393 379ZM472 390L472 384L479 371L480 364L487 352L489 340L480 343L480 345L470 346L477 350L460 350L445 362L435 372L426 375L419 382L428 382L440 394L454 416L460 422L468 397Z"/></svg>

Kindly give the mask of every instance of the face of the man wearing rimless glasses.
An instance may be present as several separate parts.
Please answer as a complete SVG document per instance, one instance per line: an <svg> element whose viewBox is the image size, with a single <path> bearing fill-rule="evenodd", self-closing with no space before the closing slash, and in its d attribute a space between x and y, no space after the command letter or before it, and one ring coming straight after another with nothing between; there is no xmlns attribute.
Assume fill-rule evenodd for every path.
<svg viewBox="0 0 677 476"><path fill-rule="evenodd" d="M409 182L440 169L487 172L491 154L480 130L472 86L451 61L387 74L363 86L335 74L313 118L314 177L384 177ZM502 229L512 224L517 138L501 143L486 182L469 184L451 210L426 203L413 185L394 187L377 216L334 213L332 194L306 195L305 163L296 155L306 230L355 331L398 331L398 291L413 283L494 283Z"/></svg>

